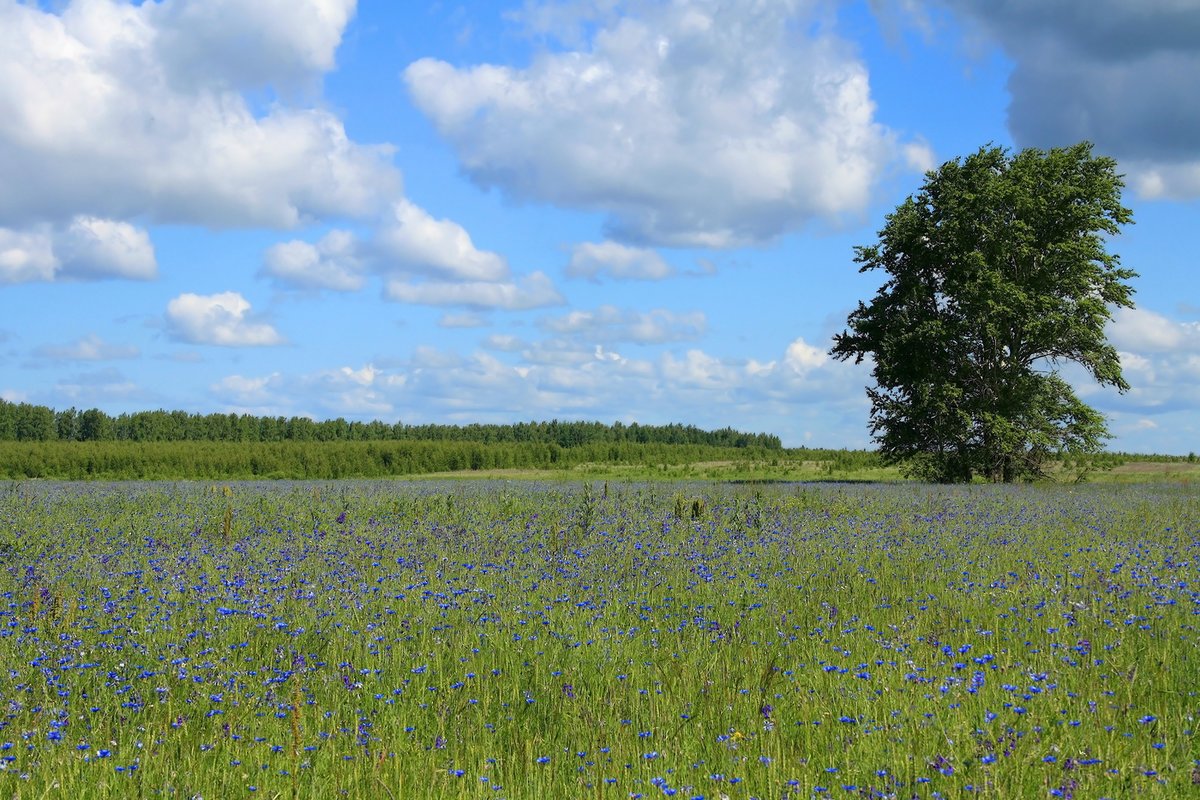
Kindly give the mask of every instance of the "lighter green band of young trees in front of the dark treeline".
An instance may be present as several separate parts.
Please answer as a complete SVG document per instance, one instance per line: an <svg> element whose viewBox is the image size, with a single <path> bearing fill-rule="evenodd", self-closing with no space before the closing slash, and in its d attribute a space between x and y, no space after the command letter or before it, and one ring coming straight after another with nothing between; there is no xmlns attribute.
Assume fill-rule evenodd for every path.
<svg viewBox="0 0 1200 800"><path fill-rule="evenodd" d="M252 480L799 458L767 447L476 441L2 441L0 480Z"/></svg>

